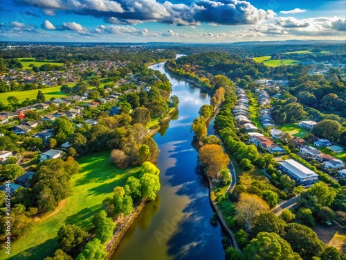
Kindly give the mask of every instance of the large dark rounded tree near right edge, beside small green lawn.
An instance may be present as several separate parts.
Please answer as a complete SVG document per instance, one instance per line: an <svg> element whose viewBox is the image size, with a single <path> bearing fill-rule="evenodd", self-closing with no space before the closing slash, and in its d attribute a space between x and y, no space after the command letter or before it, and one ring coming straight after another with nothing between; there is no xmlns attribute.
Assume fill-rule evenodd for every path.
<svg viewBox="0 0 346 260"><path fill-rule="evenodd" d="M340 123L335 120L325 119L318 122L311 132L318 137L329 139L331 143L336 143L340 136Z"/></svg>

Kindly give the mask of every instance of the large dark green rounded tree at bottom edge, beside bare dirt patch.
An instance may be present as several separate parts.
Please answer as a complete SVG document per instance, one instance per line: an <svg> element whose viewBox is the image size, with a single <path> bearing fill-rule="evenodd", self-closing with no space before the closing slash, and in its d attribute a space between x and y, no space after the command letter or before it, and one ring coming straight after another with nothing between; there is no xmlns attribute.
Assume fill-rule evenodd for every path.
<svg viewBox="0 0 346 260"><path fill-rule="evenodd" d="M297 223L290 223L285 228L283 238L291 244L294 252L302 259L310 260L319 256L325 250L325 244L318 239L311 228Z"/></svg>

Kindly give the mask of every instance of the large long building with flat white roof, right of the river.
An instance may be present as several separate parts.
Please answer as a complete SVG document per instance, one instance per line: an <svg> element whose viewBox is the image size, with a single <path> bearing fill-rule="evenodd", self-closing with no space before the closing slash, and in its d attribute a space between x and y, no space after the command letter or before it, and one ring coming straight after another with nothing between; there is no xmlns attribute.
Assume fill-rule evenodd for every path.
<svg viewBox="0 0 346 260"><path fill-rule="evenodd" d="M297 184L309 185L317 182L318 175L293 159L279 162L282 173L289 175Z"/></svg>

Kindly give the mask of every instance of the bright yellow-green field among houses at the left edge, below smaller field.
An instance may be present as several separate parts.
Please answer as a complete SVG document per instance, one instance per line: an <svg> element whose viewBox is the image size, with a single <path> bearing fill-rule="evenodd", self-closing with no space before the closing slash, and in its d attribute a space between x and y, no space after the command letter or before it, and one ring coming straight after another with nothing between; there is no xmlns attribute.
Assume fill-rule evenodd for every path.
<svg viewBox="0 0 346 260"><path fill-rule="evenodd" d="M73 85L74 84L75 83L73 83ZM8 104L8 101L6 99L8 98L8 96L17 96L17 98L19 99L19 102L25 101L26 98L35 99L37 96L37 92L39 92L39 90L41 90L44 96L46 96L46 100L49 100L52 97L60 98L62 96L67 96L67 94L60 92L60 87L61 86L48 87L46 89L33 89L33 90L24 90L19 92L1 93L0 102L4 104Z"/></svg>

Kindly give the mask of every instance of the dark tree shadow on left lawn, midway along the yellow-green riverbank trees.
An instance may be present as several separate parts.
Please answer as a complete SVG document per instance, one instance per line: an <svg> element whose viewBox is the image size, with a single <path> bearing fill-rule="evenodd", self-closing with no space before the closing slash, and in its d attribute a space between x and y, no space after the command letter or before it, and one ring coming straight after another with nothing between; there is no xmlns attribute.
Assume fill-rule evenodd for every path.
<svg viewBox="0 0 346 260"><path fill-rule="evenodd" d="M85 231L88 231L91 229L91 217L98 213L102 209L102 205L95 205L93 207L86 207L80 211L78 211L76 214L73 214L71 216L68 216L65 220L65 225L78 225Z"/></svg>

